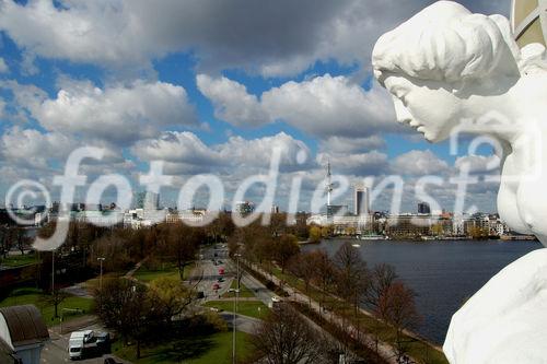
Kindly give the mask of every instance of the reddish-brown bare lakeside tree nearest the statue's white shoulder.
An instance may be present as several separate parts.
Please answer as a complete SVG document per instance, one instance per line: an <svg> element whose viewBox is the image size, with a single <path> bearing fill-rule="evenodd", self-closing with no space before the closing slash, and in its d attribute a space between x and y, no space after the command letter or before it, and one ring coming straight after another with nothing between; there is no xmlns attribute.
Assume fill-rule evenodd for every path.
<svg viewBox="0 0 547 364"><path fill-rule="evenodd" d="M397 363L406 355L408 340L403 331L419 324L420 316L416 308L415 293L400 281L394 282L380 298L377 313L395 329L394 350Z"/></svg>

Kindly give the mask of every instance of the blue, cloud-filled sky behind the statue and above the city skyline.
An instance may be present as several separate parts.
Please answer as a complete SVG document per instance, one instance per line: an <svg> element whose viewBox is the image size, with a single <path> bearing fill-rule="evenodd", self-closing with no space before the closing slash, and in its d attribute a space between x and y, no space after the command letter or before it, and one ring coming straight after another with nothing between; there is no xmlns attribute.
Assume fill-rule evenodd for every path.
<svg viewBox="0 0 547 364"><path fill-rule="evenodd" d="M162 204L175 206L193 176L212 174L228 206L246 177L268 173L279 149L281 210L298 178L299 209L310 210L329 161L351 184L400 176L408 212L419 201L416 180L440 176L429 193L450 211L458 165L479 169L491 148L468 155L463 140L452 155L447 142L423 141L395 121L371 72L380 35L432 2L0 0L0 201L21 179L58 198L54 177L90 145L106 150L80 167L90 184L121 174L138 191L139 176L163 161L173 187L162 189ZM510 0L461 2L509 15ZM467 200L496 211L497 188L470 186ZM245 198L259 202L264 192L256 185ZM195 204L207 197L201 190ZM104 201L114 198L106 189ZM386 190L372 209L389 210L389 201ZM351 207L351 191L335 202Z"/></svg>

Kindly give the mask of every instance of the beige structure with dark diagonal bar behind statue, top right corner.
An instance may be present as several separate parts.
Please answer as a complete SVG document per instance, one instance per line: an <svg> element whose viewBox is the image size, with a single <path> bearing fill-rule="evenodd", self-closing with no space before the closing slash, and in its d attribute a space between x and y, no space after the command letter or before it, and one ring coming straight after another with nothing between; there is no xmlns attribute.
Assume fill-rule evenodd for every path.
<svg viewBox="0 0 547 364"><path fill-rule="evenodd" d="M513 0L511 25L515 40L521 48L531 43L545 46L547 43L547 1Z"/></svg>

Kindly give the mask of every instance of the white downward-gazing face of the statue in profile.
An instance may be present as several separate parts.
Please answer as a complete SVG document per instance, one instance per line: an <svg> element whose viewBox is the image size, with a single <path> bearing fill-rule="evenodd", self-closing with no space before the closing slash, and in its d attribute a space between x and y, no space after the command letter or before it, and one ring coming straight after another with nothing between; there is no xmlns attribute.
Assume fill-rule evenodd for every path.
<svg viewBox="0 0 547 364"><path fill-rule="evenodd" d="M400 75L387 77L384 84L393 95L398 122L408 124L430 142L449 138L462 101L445 84Z"/></svg>

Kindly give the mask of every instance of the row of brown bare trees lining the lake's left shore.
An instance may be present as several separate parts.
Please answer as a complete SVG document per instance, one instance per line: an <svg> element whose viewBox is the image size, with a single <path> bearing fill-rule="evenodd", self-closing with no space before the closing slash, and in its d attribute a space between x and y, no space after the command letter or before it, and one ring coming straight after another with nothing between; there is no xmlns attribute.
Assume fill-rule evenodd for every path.
<svg viewBox="0 0 547 364"><path fill-rule="evenodd" d="M315 234L321 234L321 231L313 232L311 236ZM282 231L275 234L260 225L236 230L230 251L242 254L248 261L270 272L274 267L279 267L281 272L287 270L302 281L310 302L312 293L319 293L318 301L323 308L326 302L336 297L346 302L357 318L359 309L364 307L377 319L374 327L362 328L374 334L375 351L381 329L387 324L395 330L395 354L397 357L405 355L407 342L404 332L415 328L420 316L415 293L397 278L392 266L381 263L369 268L359 249L349 243L344 244L333 257L321 249L300 251L294 236Z"/></svg>

